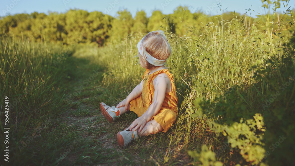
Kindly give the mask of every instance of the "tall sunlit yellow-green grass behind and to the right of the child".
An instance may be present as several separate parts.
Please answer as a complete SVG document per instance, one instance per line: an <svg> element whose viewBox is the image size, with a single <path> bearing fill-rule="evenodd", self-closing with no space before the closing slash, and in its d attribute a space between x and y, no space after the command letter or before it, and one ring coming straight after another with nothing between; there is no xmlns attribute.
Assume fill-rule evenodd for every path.
<svg viewBox="0 0 295 166"><path fill-rule="evenodd" d="M191 36L178 37L172 33L166 34L173 50L167 64L173 73L180 99L178 103L179 114L176 124L171 129L172 134L169 138L172 142L169 146L174 148L185 146L186 149L197 149L200 152L201 145L207 144L209 149L217 152L224 145L223 142L226 142L227 144L231 143L232 147L216 156L226 165L229 165L230 161L246 165L258 164L263 161L263 153L266 151L263 150L265 140L263 140L264 134L263 132L261 134L261 131L265 131L265 128L261 129L257 126L258 129L251 136L255 137L256 143L245 144L245 142L237 140L243 144L242 147L234 146L234 142L228 140L230 137L224 137L231 135L230 131L226 133L224 129L212 128L212 125L232 127L235 122L241 122L241 117L249 123L250 121L256 123L256 113L259 113L259 116L263 115L263 101L257 100L260 98L259 96L265 96L264 86L269 86L266 82L260 83L255 78L257 68L267 68L269 59L277 58L278 66L275 68L283 70L279 68L279 66L284 66L283 59L278 57L290 57L289 52L283 49L283 45L289 42L292 32L279 25L281 29L276 29L276 34L273 33L272 25L274 23L270 23L268 18L270 16L263 17L267 18L265 22L254 22L250 28L245 26L243 19L222 20L222 17L217 17L217 22L204 24L204 27L201 27L203 29L201 32ZM258 30L258 24L260 26L265 24L266 28ZM283 23L281 22L281 24ZM103 83L112 85L112 88L126 89L126 93L122 94L122 98L118 98L118 101L128 95L132 88L141 81L144 69L135 65L138 63L138 59L132 57L137 54L136 44L143 35L129 36L122 43L113 43L98 51L100 56L97 58L104 59L107 64ZM273 79L277 79L277 76ZM226 100L232 100L233 95L238 100L233 100L227 105ZM236 110L220 114L218 109L213 108L213 104L212 110L208 108L206 114L202 113L201 108L198 109L200 107L199 101L204 99L208 102L219 102L219 97L225 99L222 106L231 108L236 105ZM225 124L215 123L215 119L209 118L208 113L216 115L217 120L224 119ZM200 118L192 118L192 116ZM241 137L245 136L243 134L247 135L241 133ZM249 150L249 148L257 146L260 150L262 149L261 153L255 154L252 153L255 150ZM230 155L232 153L234 155ZM244 159L242 160L242 158ZM199 159L197 160L201 163Z"/></svg>

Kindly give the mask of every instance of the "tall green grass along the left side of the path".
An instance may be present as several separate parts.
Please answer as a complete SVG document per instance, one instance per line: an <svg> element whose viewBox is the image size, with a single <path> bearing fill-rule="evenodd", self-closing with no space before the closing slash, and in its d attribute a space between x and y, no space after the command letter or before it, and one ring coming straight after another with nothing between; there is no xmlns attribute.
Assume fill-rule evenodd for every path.
<svg viewBox="0 0 295 166"><path fill-rule="evenodd" d="M4 127L10 127L10 163L37 164L40 159L34 159L36 152L46 154L42 147L49 138L50 127L55 125L49 119L56 119L68 108L62 102L64 83L70 73L68 53L56 45L1 38L1 121L4 119L4 96L8 96L9 126L0 125L2 133ZM3 134L1 139L4 140ZM1 144L1 149L4 146Z"/></svg>

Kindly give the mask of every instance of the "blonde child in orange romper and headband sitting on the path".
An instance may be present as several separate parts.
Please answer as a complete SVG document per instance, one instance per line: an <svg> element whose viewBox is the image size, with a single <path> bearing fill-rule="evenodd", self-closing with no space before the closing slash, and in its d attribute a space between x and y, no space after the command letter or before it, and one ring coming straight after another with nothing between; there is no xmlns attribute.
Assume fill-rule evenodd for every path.
<svg viewBox="0 0 295 166"><path fill-rule="evenodd" d="M172 50L163 31L148 33L138 42L137 49L140 65L146 68L140 84L116 107L100 103L101 112L110 123L127 111L138 115L129 128L118 132L120 147L127 147L138 136L167 132L178 114L176 87L164 66Z"/></svg>

